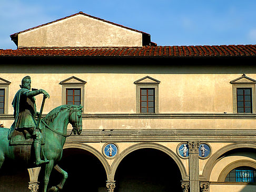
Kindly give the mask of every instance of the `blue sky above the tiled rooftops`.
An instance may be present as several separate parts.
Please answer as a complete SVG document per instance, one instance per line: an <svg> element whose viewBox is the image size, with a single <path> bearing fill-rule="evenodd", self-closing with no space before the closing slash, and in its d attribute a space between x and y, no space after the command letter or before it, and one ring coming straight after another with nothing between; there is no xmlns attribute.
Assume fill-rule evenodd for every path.
<svg viewBox="0 0 256 192"><path fill-rule="evenodd" d="M159 46L256 44L255 0L0 0L0 48L9 35L82 11L151 35Z"/></svg>

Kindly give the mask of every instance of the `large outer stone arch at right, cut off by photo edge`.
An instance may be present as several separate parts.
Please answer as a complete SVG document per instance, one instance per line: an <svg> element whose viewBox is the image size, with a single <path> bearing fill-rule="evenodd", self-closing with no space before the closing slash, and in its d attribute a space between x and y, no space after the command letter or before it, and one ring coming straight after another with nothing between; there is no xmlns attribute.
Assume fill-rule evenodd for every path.
<svg viewBox="0 0 256 192"><path fill-rule="evenodd" d="M204 166L203 174L201 180L209 181L211 172L213 167L218 163L220 160L219 157L223 155L224 153L227 153L228 151L232 149L238 149L238 148L253 148L256 149L256 143L233 143L229 144L227 146L222 147L218 151L216 151L207 161L207 163Z"/></svg>

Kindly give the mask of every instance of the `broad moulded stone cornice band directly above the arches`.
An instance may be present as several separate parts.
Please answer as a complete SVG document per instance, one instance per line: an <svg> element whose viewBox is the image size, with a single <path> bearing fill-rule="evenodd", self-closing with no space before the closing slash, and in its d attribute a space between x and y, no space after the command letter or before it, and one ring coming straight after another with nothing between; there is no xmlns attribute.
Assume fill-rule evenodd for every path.
<svg viewBox="0 0 256 192"><path fill-rule="evenodd" d="M256 142L256 129L101 129L84 128L66 142Z"/></svg>

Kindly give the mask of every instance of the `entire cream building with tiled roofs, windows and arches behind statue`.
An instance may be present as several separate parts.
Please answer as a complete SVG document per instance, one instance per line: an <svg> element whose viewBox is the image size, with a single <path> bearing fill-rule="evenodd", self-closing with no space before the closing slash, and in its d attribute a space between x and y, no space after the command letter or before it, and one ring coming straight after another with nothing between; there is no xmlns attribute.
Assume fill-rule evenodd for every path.
<svg viewBox="0 0 256 192"><path fill-rule="evenodd" d="M83 132L59 164L63 191L256 191L256 45L156 46L82 12L11 38L17 49L0 50L0 124L11 127L26 75L50 94L44 115L83 106ZM13 191L28 180L4 167L0 176Z"/></svg>

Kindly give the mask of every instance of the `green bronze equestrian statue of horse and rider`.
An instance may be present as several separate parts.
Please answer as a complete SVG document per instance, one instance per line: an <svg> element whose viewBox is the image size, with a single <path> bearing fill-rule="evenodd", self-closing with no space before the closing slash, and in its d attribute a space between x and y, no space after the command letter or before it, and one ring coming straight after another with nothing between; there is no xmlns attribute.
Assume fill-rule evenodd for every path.
<svg viewBox="0 0 256 192"><path fill-rule="evenodd" d="M0 168L5 159L23 161L26 168L42 166L42 191L46 192L54 167L63 178L60 184L49 190L59 191L63 188L67 173L57 165L57 162L62 158L66 137L72 133L80 135L82 132L82 106L61 105L41 119L45 99L50 98L50 95L43 89L30 90L29 76L22 79L20 87L12 103L14 123L9 129L0 128ZM35 96L39 94L43 94L40 113L36 111L35 105ZM73 127L70 135L67 135L68 123Z"/></svg>

